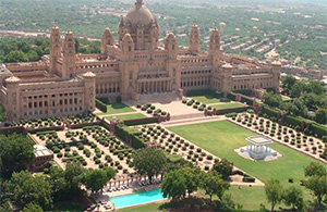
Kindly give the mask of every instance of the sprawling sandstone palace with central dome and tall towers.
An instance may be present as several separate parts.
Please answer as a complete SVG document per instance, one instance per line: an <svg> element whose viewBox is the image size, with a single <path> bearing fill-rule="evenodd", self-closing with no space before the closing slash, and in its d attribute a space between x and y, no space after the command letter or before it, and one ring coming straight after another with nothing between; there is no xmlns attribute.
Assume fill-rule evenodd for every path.
<svg viewBox="0 0 327 212"><path fill-rule="evenodd" d="M107 28L101 52L75 52L73 33L64 38L55 26L50 54L38 62L0 65L0 100L10 120L76 114L95 110L95 98L116 101L149 100L161 93L181 97L192 89L233 90L279 88L280 64L226 54L217 28L207 52L201 34L191 27L189 48L180 48L173 34L165 43L159 26L142 0L121 18L114 40ZM165 96L165 97L166 97Z"/></svg>

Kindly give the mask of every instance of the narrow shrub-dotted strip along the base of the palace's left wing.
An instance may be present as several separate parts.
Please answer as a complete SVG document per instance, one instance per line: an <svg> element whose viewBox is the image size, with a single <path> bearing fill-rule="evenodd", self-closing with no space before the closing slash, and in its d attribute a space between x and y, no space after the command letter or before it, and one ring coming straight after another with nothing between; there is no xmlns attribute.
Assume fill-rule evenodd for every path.
<svg viewBox="0 0 327 212"><path fill-rule="evenodd" d="M20 122L12 122L7 126L23 126L27 129L40 129L62 126L63 123L60 117L44 117L39 120L21 120Z"/></svg>

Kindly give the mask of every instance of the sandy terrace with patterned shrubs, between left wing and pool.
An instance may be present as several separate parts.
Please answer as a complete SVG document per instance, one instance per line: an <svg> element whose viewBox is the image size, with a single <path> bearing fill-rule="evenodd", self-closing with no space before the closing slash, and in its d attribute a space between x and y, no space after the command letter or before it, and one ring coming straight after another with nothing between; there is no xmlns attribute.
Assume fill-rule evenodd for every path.
<svg viewBox="0 0 327 212"><path fill-rule="evenodd" d="M133 149L111 135L105 127L85 126L78 129L33 134L38 144L53 142L55 161L65 167L68 161L80 161L85 167L112 167L120 174L131 169ZM43 138L43 139L41 139ZM86 142L83 142L86 141Z"/></svg>

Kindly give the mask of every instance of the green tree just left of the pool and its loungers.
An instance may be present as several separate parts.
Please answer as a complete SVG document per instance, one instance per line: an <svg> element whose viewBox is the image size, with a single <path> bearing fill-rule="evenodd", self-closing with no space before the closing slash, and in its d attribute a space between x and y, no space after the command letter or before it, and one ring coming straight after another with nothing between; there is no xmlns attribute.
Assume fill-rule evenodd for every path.
<svg viewBox="0 0 327 212"><path fill-rule="evenodd" d="M114 173L111 167L107 170L88 170L83 177L83 183L93 194L98 192L114 176Z"/></svg>

